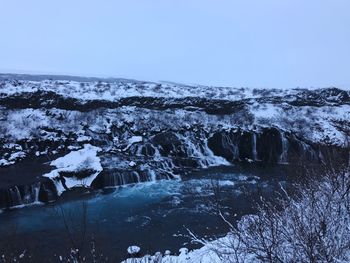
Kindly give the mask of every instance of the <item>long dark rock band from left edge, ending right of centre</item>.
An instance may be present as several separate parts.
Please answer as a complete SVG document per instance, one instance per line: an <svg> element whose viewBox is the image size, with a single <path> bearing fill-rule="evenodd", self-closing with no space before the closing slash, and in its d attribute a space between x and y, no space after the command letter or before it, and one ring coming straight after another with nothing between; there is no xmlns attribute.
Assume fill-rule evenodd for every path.
<svg viewBox="0 0 350 263"><path fill-rule="evenodd" d="M1 94L0 94L1 95ZM118 101L89 100L81 101L75 98L64 97L52 91L36 91L15 94L0 98L0 106L9 109L64 109L91 111L99 108L119 108L122 106L136 106L153 110L183 109L194 107L192 110L203 110L208 114L232 114L245 109L241 101L228 101L206 98L155 98L155 97L128 97ZM187 108L189 109L189 108Z"/></svg>

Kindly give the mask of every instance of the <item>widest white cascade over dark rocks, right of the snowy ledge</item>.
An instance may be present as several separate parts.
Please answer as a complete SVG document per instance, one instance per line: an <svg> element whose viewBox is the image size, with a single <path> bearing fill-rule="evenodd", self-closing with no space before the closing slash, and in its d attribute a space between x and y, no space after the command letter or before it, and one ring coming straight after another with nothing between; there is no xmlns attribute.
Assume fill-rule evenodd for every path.
<svg viewBox="0 0 350 263"><path fill-rule="evenodd" d="M160 179L178 178L184 169L228 165L208 146L205 132L165 133L131 145L121 156L103 157L104 170L94 182L95 188L115 187Z"/></svg>

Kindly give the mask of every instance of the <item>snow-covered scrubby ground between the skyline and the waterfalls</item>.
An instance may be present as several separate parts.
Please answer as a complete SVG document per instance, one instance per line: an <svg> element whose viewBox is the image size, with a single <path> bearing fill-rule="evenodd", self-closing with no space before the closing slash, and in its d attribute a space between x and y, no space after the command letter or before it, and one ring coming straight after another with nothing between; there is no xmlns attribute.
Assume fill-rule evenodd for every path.
<svg viewBox="0 0 350 263"><path fill-rule="evenodd" d="M242 125L252 127L252 125L255 124L277 126L284 130L301 133L302 136L306 136L307 139L311 141L337 145L344 143L344 131L340 128L346 128L350 119L350 91L336 88L278 90L190 86L127 80L87 82L72 80L2 80L0 81L0 107L2 104L1 101L6 105L6 103L9 103L6 102L6 100L10 99L11 96L17 96L17 99L21 98L22 95L24 101L28 101L29 107L22 109L21 106L18 107L17 105L15 108L11 109L12 106L5 106L5 108L1 110L0 124L2 126L2 134L0 138L6 136L11 136L16 139L30 138L35 135L35 132L38 132L38 127L59 124L59 121L54 120L54 115L57 115L56 118L58 119L65 119L63 121L65 123L67 123L67 121L72 122L72 118L77 119L79 116L84 115L71 109L74 106L64 108L64 104L63 106L59 106L61 104L57 103L57 107L52 109L52 106L50 106L50 109L44 111L43 108L45 108L47 104L52 103L56 105L54 101L55 98L50 95L50 99L47 99L45 96L48 95L45 94L42 95L44 97L40 97L39 94L39 97L26 98L28 94L36 94L36 92L52 92L66 99L76 99L81 103L91 101L118 102L123 98L137 98L133 103L136 103L135 105L140 103L139 106L120 105L117 110L110 109L109 112L104 113L110 115L108 117L108 119L110 119L109 124L104 120L106 129L103 130L103 132L106 133L110 132L108 127L116 121L120 126L123 125L123 123L136 122L142 118L148 118L150 115L160 115L158 117L159 120L166 122L169 114L167 114L167 112L159 113L159 111L152 111L155 107L153 105L155 102L148 102L147 100L149 98L165 99L164 101L157 101L156 103L161 103L160 105L162 105L165 111L172 111L173 116L171 116L171 118L175 118L177 122L175 126L178 126L179 122L189 126L196 122L204 122L204 125L206 125L205 122L220 123L220 125L224 127ZM189 102L187 101L188 98L195 100ZM143 99L146 99L146 101L142 102ZM196 101L197 99L204 99L205 101ZM35 109L38 106L30 106L33 103L38 103L38 101L32 100L41 101L40 109ZM174 100L178 101L174 104ZM212 105L208 104L207 100L217 101ZM235 110L233 113L223 114L225 116L221 116L219 122L215 116L211 118L212 116L207 116L208 114L203 112L203 110L210 110L210 107L215 106L215 104L215 107L222 104L220 107L224 108L224 112L229 112L234 106L231 104L225 106L225 103L228 102L241 102L243 107ZM190 105L188 103L190 103ZM191 105L191 103L193 105ZM181 104L184 106L181 107ZM102 105L101 108L103 107L108 108L109 106ZM209 107L209 109L205 107ZM48 114L47 110L51 111L50 114ZM77 108L77 111L79 111L79 108ZM237 111L241 114L241 123L238 125L235 123L237 120L234 118L234 115L237 115ZM123 119L118 120L113 118L114 112L122 115ZM164 117L162 118L162 116ZM196 120L194 120L194 118ZM250 120L251 118L252 120ZM52 123L53 121L55 123ZM101 129L98 123L94 126ZM156 126L159 125L156 124ZM25 129L23 127L25 127ZM76 129L76 127L76 123L71 124L71 128ZM159 128L164 129L164 127ZM84 135L82 135L80 139L88 140Z"/></svg>

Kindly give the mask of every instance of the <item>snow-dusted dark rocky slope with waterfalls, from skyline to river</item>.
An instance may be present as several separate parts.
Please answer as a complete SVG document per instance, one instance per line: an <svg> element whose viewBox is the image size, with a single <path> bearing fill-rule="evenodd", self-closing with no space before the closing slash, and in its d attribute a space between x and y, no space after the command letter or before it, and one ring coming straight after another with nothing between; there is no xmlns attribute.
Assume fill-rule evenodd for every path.
<svg viewBox="0 0 350 263"><path fill-rule="evenodd" d="M349 92L336 88L19 79L0 81L0 208L54 201L75 187L179 178L208 166L348 157ZM55 170L53 160L83 154L87 145L100 149L102 169L84 169L92 162L87 155Z"/></svg>

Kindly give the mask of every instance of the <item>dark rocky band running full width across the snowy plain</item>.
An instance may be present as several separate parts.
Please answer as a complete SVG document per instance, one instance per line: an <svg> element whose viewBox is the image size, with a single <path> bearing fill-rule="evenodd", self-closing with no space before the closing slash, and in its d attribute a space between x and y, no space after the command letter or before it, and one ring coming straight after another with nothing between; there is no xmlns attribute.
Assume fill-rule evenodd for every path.
<svg viewBox="0 0 350 263"><path fill-rule="evenodd" d="M23 92L6 96L0 94L0 106L9 109L25 108L58 108L64 110L91 111L99 108L119 108L135 106L152 110L186 109L189 111L202 110L208 114L233 114L246 109L246 105L257 103L286 103L291 106L339 106L350 104L348 92L330 88L318 91L303 91L296 95L285 97L263 97L238 101L225 99L210 99L198 97L164 98L164 97L126 97L116 101L88 100L83 101L72 97L65 97L53 91Z"/></svg>

